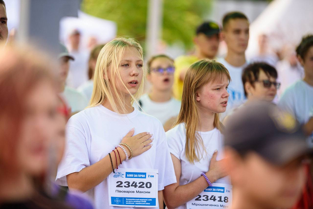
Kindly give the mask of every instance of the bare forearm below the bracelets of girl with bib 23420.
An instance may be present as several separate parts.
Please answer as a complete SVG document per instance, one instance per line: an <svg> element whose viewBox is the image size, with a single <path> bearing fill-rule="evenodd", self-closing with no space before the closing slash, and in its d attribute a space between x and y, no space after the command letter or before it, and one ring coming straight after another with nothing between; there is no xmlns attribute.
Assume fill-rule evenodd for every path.
<svg viewBox="0 0 313 209"><path fill-rule="evenodd" d="M118 147L117 149L119 150L121 161L123 162L126 159L126 155L121 148ZM121 164L116 150L115 153L117 165L114 152L112 151L110 153L114 169ZM104 181L112 172L113 170L110 157L107 155L100 161L96 162L94 165L90 165L82 169L80 172L67 175L68 186L69 188L86 192Z"/></svg>

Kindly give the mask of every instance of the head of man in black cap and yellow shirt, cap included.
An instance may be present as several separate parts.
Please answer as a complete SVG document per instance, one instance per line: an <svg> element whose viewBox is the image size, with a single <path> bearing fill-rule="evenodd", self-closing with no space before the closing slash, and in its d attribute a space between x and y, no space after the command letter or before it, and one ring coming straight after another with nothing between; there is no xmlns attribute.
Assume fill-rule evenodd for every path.
<svg viewBox="0 0 313 209"><path fill-rule="evenodd" d="M218 52L219 26L214 22L204 22L196 30L194 43L203 58L213 59Z"/></svg>

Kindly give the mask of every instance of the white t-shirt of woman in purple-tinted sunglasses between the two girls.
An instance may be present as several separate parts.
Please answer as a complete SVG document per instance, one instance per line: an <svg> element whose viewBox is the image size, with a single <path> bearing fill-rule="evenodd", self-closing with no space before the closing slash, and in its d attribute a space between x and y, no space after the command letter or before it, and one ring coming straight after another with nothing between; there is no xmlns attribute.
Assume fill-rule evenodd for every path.
<svg viewBox="0 0 313 209"><path fill-rule="evenodd" d="M144 94L139 101L141 102L142 111L156 117L163 125L168 119L179 114L181 106L181 102L174 97L167 102L153 102L148 94ZM136 105L136 108L140 110L138 105Z"/></svg>

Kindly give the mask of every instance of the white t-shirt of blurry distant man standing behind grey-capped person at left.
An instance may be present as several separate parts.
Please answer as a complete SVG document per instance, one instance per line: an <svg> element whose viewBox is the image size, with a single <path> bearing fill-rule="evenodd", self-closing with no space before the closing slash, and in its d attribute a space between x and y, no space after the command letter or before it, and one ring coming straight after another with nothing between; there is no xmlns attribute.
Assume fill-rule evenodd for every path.
<svg viewBox="0 0 313 209"><path fill-rule="evenodd" d="M75 60L70 61L69 75L66 79L66 85L72 88L77 88L88 80L88 52L73 51L70 54Z"/></svg>

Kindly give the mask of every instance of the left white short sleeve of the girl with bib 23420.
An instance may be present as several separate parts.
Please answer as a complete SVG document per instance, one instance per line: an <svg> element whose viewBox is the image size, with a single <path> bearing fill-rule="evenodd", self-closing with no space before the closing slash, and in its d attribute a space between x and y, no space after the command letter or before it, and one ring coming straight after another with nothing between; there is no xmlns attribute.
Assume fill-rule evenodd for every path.
<svg viewBox="0 0 313 209"><path fill-rule="evenodd" d="M78 114L70 118L66 126L65 151L55 180L57 184L62 186L67 186L66 175L79 172L83 168L90 166L88 150L88 144L90 143L88 143L85 137L85 130L88 127L83 127L79 117L77 117Z"/></svg>

